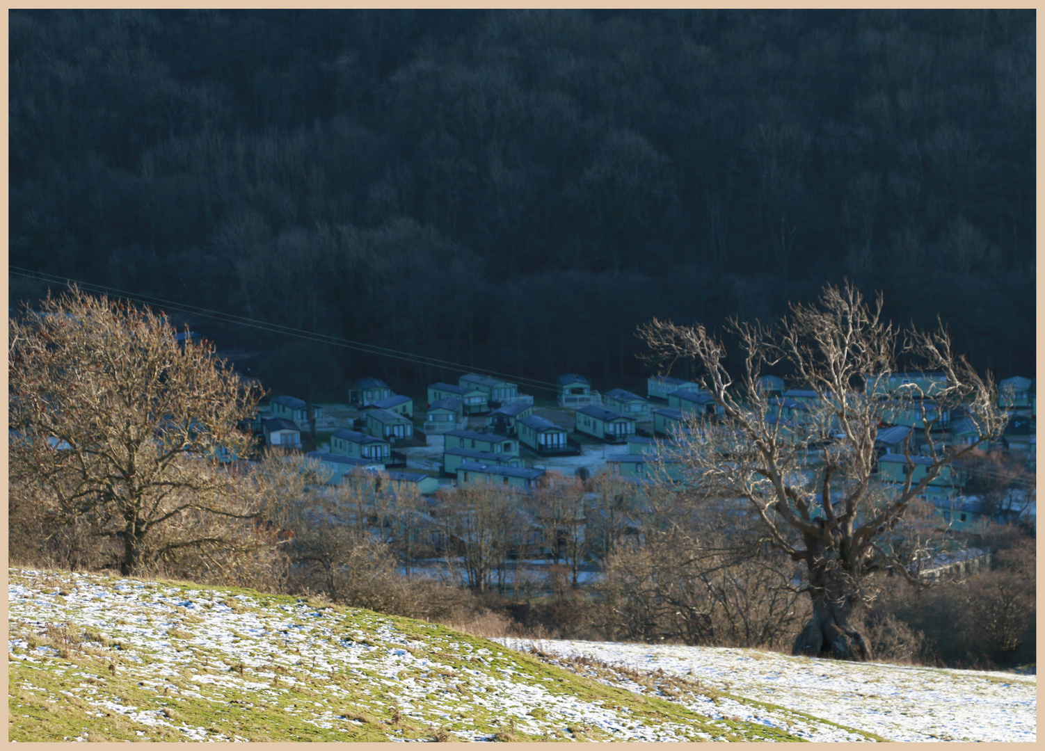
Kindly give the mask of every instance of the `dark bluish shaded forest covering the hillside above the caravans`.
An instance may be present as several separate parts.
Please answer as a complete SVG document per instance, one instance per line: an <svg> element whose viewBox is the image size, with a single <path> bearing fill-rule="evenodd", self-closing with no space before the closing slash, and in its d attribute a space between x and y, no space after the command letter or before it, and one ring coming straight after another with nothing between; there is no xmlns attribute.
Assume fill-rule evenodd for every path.
<svg viewBox="0 0 1045 751"><path fill-rule="evenodd" d="M11 264L597 385L844 277L1035 374L1034 10L8 18ZM255 336L275 388L451 375Z"/></svg>

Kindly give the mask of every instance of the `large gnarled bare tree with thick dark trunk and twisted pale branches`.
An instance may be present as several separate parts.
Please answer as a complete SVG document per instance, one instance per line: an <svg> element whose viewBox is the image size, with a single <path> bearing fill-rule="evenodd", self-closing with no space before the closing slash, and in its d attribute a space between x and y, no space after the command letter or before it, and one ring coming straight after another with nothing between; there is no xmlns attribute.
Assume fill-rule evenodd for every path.
<svg viewBox="0 0 1045 751"><path fill-rule="evenodd" d="M953 354L943 325L901 331L882 319L880 297L870 306L849 284L828 285L816 304L792 304L776 325L733 321L728 330L742 351L736 376L722 341L703 326L654 319L640 329L654 359L695 360L699 382L723 410L717 422L692 421L679 437L693 485L704 499L753 512L752 529L805 565L813 614L793 652L866 659L853 614L874 597L870 574L889 570L918 584L910 565L925 555L932 524L911 512L929 483L978 443L945 448L933 430L962 403L979 441L1000 432L994 383ZM880 398L877 378L898 358L943 373L946 382L932 390L909 383ZM761 386L765 368L789 368L816 398L795 408L770 396ZM877 428L901 412L924 424L922 455L906 444L902 482L878 482Z"/></svg>

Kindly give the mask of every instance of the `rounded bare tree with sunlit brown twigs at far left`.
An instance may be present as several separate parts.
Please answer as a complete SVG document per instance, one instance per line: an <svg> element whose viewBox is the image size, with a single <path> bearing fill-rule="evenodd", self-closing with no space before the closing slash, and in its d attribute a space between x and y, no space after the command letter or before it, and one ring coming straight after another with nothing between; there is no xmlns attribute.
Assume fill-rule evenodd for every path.
<svg viewBox="0 0 1045 751"><path fill-rule="evenodd" d="M55 524L118 541L124 574L254 544L230 527L258 513L225 460L250 451L237 422L258 391L148 308L75 287L42 308L8 321L11 493L31 490Z"/></svg>

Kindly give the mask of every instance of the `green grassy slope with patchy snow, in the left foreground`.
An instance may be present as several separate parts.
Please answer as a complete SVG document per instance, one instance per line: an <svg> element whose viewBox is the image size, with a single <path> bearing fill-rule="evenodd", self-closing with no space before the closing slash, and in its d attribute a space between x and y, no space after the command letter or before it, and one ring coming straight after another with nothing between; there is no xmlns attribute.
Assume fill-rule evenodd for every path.
<svg viewBox="0 0 1045 751"><path fill-rule="evenodd" d="M800 740L311 600L19 569L8 593L11 741Z"/></svg>

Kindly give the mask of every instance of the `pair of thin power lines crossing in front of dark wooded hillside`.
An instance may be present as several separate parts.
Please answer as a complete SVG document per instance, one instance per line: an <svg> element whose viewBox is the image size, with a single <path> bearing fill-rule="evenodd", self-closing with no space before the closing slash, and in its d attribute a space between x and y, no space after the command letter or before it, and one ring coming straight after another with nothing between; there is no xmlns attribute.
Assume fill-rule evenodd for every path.
<svg viewBox="0 0 1045 751"><path fill-rule="evenodd" d="M381 357L391 357L394 359L405 360L408 362L414 362L416 365L423 365L433 368L445 368L447 370L461 370L465 372L479 373L482 375L510 379L510 382L518 383L519 385L526 386L528 389L540 389L543 391L551 391L551 392L558 391L558 386L555 383L537 380L535 378L526 378L524 376L516 376L511 373L501 373L497 371L468 368L467 366L461 365L460 362L452 362L450 360L444 360L438 357L417 355L410 352L403 352L401 350L394 350L389 347L370 345L365 342L355 342L353 339L346 339L340 336L332 336L330 334L321 334L315 331L305 331L303 329L297 329L292 326L283 326L282 324L266 323L263 321L258 321L256 319L250 319L243 315L224 313L218 310L212 310L210 308L202 308L195 305L189 305L187 303L179 303L176 301L163 300L162 298L157 298L155 296L129 292L123 289L116 289L114 287L108 287L102 284L94 284L78 279L71 279L69 277L60 277L53 274L45 274L44 272L38 272L31 268L23 268L21 266L13 266L13 265L9 265L7 268L10 274L15 274L21 277L36 279L38 281L43 281L43 282L51 282L51 283L67 284L67 285L72 283L76 284L83 289L86 289L87 291L94 291L114 297L121 297L124 298L125 300L144 303L147 305L163 305L170 310L178 310L180 312L192 313L194 315L203 315L205 318L209 318L214 321L219 321L222 323L233 324L238 326L248 326L256 329L261 329L262 331L280 333L287 336L295 336L298 338L308 339L311 342L328 344L335 347L342 347L345 349L365 352L367 354L378 355Z"/></svg>

